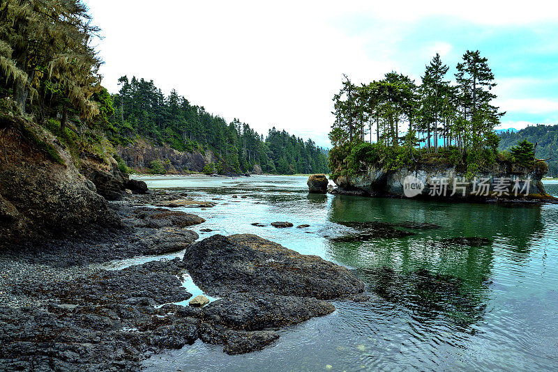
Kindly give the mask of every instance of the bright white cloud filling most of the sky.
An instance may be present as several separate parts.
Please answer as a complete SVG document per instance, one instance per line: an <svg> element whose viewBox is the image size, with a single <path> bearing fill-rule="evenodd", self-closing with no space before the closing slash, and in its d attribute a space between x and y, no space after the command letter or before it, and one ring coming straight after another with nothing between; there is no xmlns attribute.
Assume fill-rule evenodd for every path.
<svg viewBox="0 0 558 372"><path fill-rule="evenodd" d="M420 71L435 52L451 53L449 42L432 40L428 50L396 59L406 53L398 50L398 42L408 24L432 15L516 24L558 14L536 10L537 1L522 8L488 1L467 6L446 1L428 6L420 1L88 2L105 36L99 42L106 62L101 72L110 91L118 90L121 75L153 79L165 93L176 88L229 121L240 118L263 134L276 125L312 137L320 146L329 146L331 97L343 73L354 82L367 82L390 70L409 71L411 64L419 63ZM359 22L370 22L365 33L359 32ZM410 56L417 53L428 56L415 61ZM555 107L553 102L503 98L507 110Z"/></svg>

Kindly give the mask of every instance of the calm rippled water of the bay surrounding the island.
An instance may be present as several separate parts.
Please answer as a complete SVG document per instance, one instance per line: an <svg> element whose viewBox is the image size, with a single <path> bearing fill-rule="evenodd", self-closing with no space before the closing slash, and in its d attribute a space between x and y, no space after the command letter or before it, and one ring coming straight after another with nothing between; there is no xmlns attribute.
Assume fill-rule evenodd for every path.
<svg viewBox="0 0 558 372"><path fill-rule="evenodd" d="M187 189L195 199L218 199L214 208L186 209L207 220L196 231L214 230L199 232L201 238L255 233L354 269L372 294L360 304L334 302L337 311L281 330L278 343L266 350L230 356L197 341L152 357L145 364L149 370L558 369L558 206L308 195L305 177L145 180L149 187ZM547 189L558 195L558 185ZM356 232L339 222L407 220L442 228L406 238L334 240ZM274 221L311 226L250 225ZM441 242L455 237L491 242L481 247Z"/></svg>

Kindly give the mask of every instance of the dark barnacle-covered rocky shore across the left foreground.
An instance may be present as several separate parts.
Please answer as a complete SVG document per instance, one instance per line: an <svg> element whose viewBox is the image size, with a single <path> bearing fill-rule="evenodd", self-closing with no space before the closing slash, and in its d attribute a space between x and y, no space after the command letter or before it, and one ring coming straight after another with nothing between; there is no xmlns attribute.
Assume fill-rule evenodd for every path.
<svg viewBox="0 0 558 372"><path fill-rule="evenodd" d="M107 203L110 226L0 251L0 365L6 371L136 371L142 360L197 339L228 354L261 350L280 327L366 300L352 272L256 235L197 241L204 219L156 206L187 195L155 192ZM103 264L177 252L122 270ZM218 300L205 307L182 285L189 273Z"/></svg>

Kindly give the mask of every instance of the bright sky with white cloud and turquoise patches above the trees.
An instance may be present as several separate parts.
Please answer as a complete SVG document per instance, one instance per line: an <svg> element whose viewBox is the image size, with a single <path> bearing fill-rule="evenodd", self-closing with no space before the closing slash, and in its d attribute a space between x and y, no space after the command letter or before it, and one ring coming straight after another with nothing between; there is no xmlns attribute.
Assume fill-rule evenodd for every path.
<svg viewBox="0 0 558 372"><path fill-rule="evenodd" d="M478 49L498 84L499 128L558 123L558 4L551 1L86 0L111 93L123 75L173 88L227 121L331 147L333 94L386 72L420 83L435 53Z"/></svg>

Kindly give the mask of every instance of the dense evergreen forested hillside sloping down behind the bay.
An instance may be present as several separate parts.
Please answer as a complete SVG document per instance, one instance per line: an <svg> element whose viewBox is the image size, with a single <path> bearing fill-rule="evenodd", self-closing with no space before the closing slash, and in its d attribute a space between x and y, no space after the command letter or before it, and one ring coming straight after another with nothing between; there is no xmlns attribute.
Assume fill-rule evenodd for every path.
<svg viewBox="0 0 558 372"><path fill-rule="evenodd" d="M326 150L273 127L264 137L238 119L227 123L203 106L190 104L172 91L168 96L152 80L123 76L112 95L112 139L126 145L149 139L179 151L212 150L221 159L216 171L251 171L255 164L266 173L326 173ZM164 160L162 160L164 161ZM153 169L153 171L156 171Z"/></svg>

